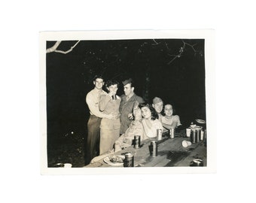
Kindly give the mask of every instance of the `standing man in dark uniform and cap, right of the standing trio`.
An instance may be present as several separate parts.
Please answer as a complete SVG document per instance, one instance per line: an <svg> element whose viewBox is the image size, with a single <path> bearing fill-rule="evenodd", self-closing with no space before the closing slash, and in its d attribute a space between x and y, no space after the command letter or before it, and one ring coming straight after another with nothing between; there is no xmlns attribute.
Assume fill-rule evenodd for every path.
<svg viewBox="0 0 256 203"><path fill-rule="evenodd" d="M120 135L126 132L126 129L130 126L133 119L133 107L144 103L143 98L134 93L134 82L131 78L124 80L123 82L123 92L121 95L120 102Z"/></svg>

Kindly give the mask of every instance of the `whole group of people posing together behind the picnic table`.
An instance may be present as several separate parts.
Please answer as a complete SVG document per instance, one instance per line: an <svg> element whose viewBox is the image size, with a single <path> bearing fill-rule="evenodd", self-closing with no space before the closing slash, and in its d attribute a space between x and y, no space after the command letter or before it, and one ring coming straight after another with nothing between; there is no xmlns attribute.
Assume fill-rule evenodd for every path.
<svg viewBox="0 0 256 203"><path fill-rule="evenodd" d="M117 95L119 83L116 80L105 82L101 75L96 75L93 84L94 88L86 96L90 117L85 164L96 156L129 147L134 135L140 135L143 141L156 137L157 129L164 132L181 126L178 115L173 115L172 105L163 107L163 100L157 97L152 105L145 103L134 92L135 83L131 78L122 81L124 94L121 96ZM107 92L102 89L104 85Z"/></svg>

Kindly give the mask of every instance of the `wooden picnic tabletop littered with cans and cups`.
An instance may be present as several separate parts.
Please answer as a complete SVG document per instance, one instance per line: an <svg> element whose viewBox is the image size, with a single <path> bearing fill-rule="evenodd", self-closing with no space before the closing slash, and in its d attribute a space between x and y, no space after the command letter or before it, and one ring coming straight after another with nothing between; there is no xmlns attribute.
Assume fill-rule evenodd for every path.
<svg viewBox="0 0 256 203"><path fill-rule="evenodd" d="M114 155L122 155L130 152L134 156L134 167L173 167L173 166L190 166L194 159L203 160L203 166L207 165L205 141L192 143L188 147L182 147L182 141L190 141L185 137L185 131L176 132L175 138L169 138L163 135L163 139L157 141L157 156L152 157L149 151L151 141L157 141L156 138L149 138L141 142L141 147L135 149L133 146L121 150ZM108 155L106 155L108 156ZM84 167L123 167L123 165L109 165L104 162L106 156L102 156L96 162L90 163Z"/></svg>

